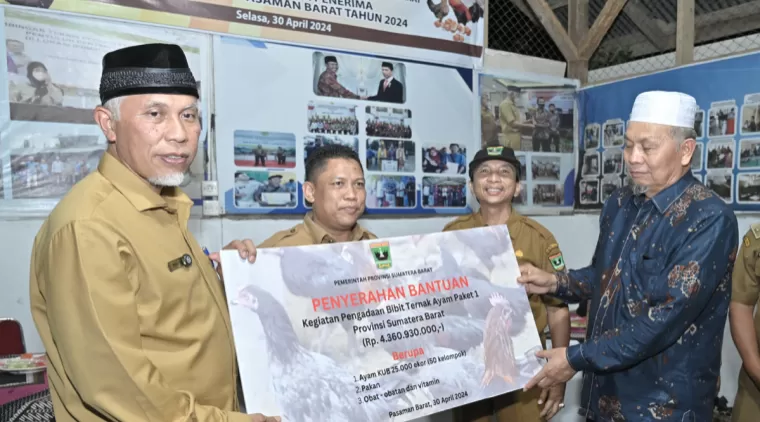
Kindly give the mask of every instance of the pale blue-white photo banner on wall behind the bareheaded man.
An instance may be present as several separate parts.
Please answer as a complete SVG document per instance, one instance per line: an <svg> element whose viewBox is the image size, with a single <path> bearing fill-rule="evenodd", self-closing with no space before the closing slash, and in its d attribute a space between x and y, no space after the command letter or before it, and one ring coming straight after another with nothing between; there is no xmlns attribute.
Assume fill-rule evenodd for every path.
<svg viewBox="0 0 760 422"><path fill-rule="evenodd" d="M469 212L471 70L222 36L214 64L225 213L308 211L305 160L331 143L362 159L368 214Z"/></svg>

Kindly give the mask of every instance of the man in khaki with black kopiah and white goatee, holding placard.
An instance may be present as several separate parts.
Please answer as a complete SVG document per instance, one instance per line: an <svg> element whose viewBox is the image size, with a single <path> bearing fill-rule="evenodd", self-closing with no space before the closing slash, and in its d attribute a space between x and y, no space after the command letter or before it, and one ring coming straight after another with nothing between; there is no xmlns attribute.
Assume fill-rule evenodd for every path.
<svg viewBox="0 0 760 422"><path fill-rule="evenodd" d="M56 206L32 250L31 310L56 420L279 420L237 412L221 271L187 227L193 203L178 186L201 126L182 49L106 54L100 96L95 121L108 150ZM255 258L250 241L227 249Z"/></svg>

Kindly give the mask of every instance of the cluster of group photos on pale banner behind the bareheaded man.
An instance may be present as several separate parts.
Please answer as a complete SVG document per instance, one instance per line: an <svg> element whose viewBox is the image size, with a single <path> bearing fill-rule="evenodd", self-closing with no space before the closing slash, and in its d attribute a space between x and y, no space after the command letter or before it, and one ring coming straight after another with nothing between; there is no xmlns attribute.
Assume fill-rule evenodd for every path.
<svg viewBox="0 0 760 422"><path fill-rule="evenodd" d="M304 135L235 132L235 206L309 208L299 170L318 148L342 144L362 160L367 209L466 207L467 145L419 140L406 105L406 69L396 61L315 52Z"/></svg>

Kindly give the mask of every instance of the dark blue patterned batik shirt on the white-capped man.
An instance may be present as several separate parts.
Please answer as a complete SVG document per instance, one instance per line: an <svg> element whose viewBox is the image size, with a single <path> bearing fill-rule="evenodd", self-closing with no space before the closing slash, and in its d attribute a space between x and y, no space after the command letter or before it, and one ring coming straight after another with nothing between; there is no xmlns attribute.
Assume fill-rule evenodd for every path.
<svg viewBox="0 0 760 422"><path fill-rule="evenodd" d="M688 173L647 200L604 204L591 265L559 273L556 296L591 300L581 414L596 421L712 421L736 258L736 216Z"/></svg>

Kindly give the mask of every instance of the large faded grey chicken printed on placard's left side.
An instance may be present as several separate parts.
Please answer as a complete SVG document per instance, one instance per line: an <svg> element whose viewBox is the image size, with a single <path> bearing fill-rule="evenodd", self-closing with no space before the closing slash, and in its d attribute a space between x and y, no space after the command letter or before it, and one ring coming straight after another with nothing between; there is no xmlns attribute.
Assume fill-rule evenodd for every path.
<svg viewBox="0 0 760 422"><path fill-rule="evenodd" d="M388 420L390 410L410 406L406 395L397 396L395 400L358 404L357 397L360 396L356 394L354 376L329 357L304 348L285 309L268 292L256 286L246 286L231 304L258 315L283 421L384 421ZM402 388L412 382L408 374L398 372L383 378L382 391Z"/></svg>

